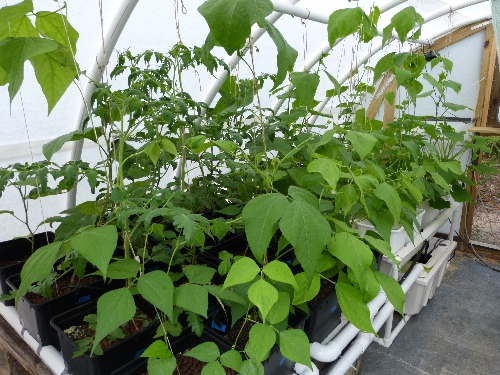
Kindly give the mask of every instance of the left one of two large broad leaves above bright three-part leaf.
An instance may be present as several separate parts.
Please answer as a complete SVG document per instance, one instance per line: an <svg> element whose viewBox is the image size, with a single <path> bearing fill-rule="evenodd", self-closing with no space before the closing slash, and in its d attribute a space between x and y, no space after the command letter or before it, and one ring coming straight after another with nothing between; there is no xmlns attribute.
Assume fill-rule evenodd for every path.
<svg viewBox="0 0 500 375"><path fill-rule="evenodd" d="M263 194L248 202L241 212L248 244L260 263L276 232L276 223L289 204L282 194Z"/></svg>

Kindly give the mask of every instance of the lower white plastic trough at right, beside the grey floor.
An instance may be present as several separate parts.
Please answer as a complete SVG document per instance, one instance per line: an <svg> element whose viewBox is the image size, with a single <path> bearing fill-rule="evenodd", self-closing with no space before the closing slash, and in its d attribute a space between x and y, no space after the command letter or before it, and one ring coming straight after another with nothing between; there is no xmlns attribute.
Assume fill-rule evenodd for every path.
<svg viewBox="0 0 500 375"><path fill-rule="evenodd" d="M432 238L430 249L434 247L436 241L436 238ZM456 246L456 242L446 240L432 252L431 259L424 264L424 272L420 274L420 277L406 294L405 314L418 314L422 307L427 305L429 299L434 296L436 289L441 285L444 271Z"/></svg>

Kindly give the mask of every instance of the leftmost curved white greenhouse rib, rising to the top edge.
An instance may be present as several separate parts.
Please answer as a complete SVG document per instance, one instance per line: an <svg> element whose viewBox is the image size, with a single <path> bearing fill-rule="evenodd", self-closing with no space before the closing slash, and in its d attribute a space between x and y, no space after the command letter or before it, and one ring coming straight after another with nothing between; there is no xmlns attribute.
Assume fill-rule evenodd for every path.
<svg viewBox="0 0 500 375"><path fill-rule="evenodd" d="M99 51L96 55L96 62L92 67L92 72L90 73L90 81L85 87L85 93L83 95L83 101L80 105L80 111L78 112L76 130L85 128L85 120L89 117L90 98L95 91L95 85L93 81L100 81L104 73L104 67L109 61L111 53L116 46L116 42L120 38L120 35L130 18L130 15L135 9L135 6L139 0L123 0L120 7L116 11L113 19L111 20L111 25L109 27L106 36L104 37L103 46L99 47ZM75 141L73 143L73 150L71 153L71 160L79 160L82 157L83 139L80 141ZM73 208L76 205L76 192L77 186L68 192L68 198L66 202L67 208Z"/></svg>

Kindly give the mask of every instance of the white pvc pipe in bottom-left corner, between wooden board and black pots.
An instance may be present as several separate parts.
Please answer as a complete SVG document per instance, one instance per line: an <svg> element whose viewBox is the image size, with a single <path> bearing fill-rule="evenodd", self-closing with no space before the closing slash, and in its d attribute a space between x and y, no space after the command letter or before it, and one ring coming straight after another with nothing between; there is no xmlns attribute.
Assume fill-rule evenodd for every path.
<svg viewBox="0 0 500 375"><path fill-rule="evenodd" d="M23 338L23 340L33 349L42 361L54 374L65 374L66 367L64 359L52 345L40 346L40 343L31 336L19 322L19 314L13 306L0 304L0 315L10 324L10 326Z"/></svg>

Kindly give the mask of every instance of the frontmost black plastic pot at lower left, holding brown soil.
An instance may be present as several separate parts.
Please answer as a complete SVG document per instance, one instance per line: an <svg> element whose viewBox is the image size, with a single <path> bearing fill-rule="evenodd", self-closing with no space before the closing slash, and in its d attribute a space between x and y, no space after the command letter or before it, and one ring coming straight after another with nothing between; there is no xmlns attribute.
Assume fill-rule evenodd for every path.
<svg viewBox="0 0 500 375"><path fill-rule="evenodd" d="M135 296L136 306L150 317L156 316L156 311L152 305L139 296ZM139 358L140 355L151 345L158 328L158 322L151 323L146 328L135 334L122 339L118 344L113 345L104 351L103 355L89 354L72 358L73 353L78 350L76 344L64 330L84 323L83 318L89 314L97 312L97 303L89 302L64 314L54 317L50 324L57 331L61 352L66 363L68 372L72 375L110 375L125 363Z"/></svg>

